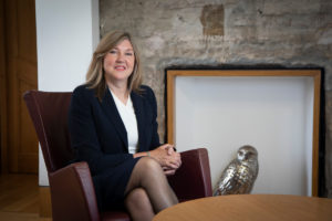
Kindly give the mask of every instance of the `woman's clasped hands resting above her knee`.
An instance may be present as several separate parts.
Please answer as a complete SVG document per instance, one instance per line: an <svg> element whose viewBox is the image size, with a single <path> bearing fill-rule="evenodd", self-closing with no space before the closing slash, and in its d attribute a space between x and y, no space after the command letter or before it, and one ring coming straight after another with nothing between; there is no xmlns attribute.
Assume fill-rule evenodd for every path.
<svg viewBox="0 0 332 221"><path fill-rule="evenodd" d="M160 164L165 175L167 176L174 175L175 171L181 166L180 154L174 150L173 145L162 145L160 147L149 151L149 154Z"/></svg>

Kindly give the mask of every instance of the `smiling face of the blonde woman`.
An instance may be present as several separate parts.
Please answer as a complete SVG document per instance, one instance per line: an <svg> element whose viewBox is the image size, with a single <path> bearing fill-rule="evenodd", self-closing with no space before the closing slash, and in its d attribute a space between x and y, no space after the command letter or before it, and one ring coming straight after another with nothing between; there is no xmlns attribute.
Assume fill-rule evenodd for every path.
<svg viewBox="0 0 332 221"><path fill-rule="evenodd" d="M135 54L132 43L125 39L104 57L104 75L107 84L125 84L133 73Z"/></svg>

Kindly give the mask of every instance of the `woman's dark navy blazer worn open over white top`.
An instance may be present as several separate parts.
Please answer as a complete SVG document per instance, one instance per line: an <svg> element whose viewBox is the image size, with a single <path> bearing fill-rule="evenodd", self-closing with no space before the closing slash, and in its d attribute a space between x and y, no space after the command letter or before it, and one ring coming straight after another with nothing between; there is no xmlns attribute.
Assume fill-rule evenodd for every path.
<svg viewBox="0 0 332 221"><path fill-rule="evenodd" d="M138 151L148 151L159 144L157 104L153 91L132 92L131 98L138 127ZM72 95L69 129L75 161L87 161L92 176L115 168L133 155L128 154L125 126L108 90L102 102L94 91L81 85Z"/></svg>

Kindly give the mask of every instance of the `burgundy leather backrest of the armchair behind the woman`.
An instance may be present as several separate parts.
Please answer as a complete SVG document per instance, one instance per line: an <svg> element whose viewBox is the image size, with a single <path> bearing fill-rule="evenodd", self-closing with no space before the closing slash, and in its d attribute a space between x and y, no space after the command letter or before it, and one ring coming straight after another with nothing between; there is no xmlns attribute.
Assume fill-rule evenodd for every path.
<svg viewBox="0 0 332 221"><path fill-rule="evenodd" d="M29 91L23 95L49 172L64 167L73 159L68 131L71 96L71 92L41 91Z"/></svg>

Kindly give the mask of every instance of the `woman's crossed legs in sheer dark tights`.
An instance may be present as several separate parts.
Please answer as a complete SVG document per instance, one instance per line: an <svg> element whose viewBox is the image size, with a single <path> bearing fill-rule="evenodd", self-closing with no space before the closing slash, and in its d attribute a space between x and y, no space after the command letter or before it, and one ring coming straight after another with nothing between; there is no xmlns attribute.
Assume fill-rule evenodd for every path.
<svg viewBox="0 0 332 221"><path fill-rule="evenodd" d="M154 214L178 202L159 162L151 157L137 161L125 193L125 206L135 221L152 220Z"/></svg>

